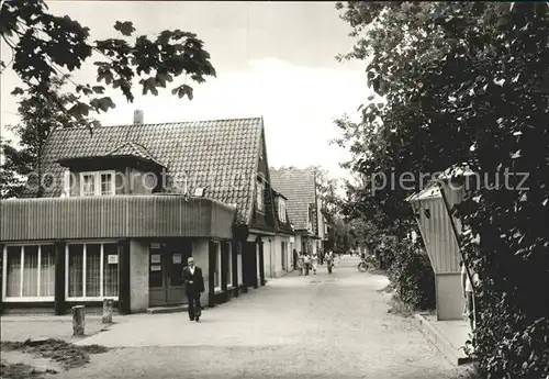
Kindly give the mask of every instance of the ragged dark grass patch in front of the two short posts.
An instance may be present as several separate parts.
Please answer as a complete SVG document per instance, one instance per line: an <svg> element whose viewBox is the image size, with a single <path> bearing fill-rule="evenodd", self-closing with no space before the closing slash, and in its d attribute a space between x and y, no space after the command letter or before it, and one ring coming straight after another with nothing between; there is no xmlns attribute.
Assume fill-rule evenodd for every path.
<svg viewBox="0 0 549 379"><path fill-rule="evenodd" d="M52 359L65 369L80 367L90 361L91 354L107 353L109 349L100 345L76 346L61 339L44 339L25 342L2 342L2 350L18 350Z"/></svg>

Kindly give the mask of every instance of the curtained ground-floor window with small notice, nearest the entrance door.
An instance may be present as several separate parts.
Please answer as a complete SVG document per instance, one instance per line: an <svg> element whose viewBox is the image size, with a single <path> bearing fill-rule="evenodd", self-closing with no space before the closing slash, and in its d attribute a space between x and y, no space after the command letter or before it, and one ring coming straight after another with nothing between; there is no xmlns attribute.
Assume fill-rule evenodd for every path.
<svg viewBox="0 0 549 379"><path fill-rule="evenodd" d="M119 297L119 247L115 243L67 245L66 265L67 299Z"/></svg>

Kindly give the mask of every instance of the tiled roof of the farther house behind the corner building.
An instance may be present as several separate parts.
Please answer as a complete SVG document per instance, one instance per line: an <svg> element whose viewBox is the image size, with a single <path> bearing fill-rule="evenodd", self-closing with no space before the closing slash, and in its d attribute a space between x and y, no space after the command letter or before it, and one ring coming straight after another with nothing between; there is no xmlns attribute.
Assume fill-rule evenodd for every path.
<svg viewBox="0 0 549 379"><path fill-rule="evenodd" d="M288 198L287 210L295 230L306 230L309 204L316 201L314 169L270 168L271 186Z"/></svg>

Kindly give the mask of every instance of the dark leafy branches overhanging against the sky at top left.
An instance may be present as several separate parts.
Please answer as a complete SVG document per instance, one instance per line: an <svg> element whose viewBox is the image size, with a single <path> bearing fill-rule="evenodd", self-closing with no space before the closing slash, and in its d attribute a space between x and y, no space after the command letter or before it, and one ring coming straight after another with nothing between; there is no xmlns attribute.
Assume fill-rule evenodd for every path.
<svg viewBox="0 0 549 379"><path fill-rule="evenodd" d="M90 41L90 31L68 15L58 16L48 12L43 0L4 1L0 9L0 36L11 48L10 62L2 60L2 71L11 66L22 82L48 98L51 104L82 123L93 112L107 112L115 107L104 92L108 88L122 92L132 102L136 87L143 94L158 94L177 77L184 75L202 83L215 76L210 54L195 34L163 31L155 38L132 35L132 22L116 21L117 37ZM51 81L93 62L97 80L91 83L71 81L72 90L65 99L52 90ZM186 82L176 82L171 92L179 98L192 99L193 88ZM15 88L12 94L23 94ZM65 100L65 101L64 101ZM97 123L94 123L97 125Z"/></svg>

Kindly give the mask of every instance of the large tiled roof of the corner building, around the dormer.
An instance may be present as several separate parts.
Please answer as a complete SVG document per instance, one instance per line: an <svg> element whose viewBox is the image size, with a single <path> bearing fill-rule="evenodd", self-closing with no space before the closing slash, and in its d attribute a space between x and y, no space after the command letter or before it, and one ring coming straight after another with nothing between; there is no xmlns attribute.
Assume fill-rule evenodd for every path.
<svg viewBox="0 0 549 379"><path fill-rule="evenodd" d="M45 145L42 167L58 180L44 196L61 194L65 169L57 159L105 156L131 141L161 161L181 188L183 182L191 190L205 188L205 197L235 204L238 221L249 224L262 129L262 119L254 118L102 126L93 133L87 129L56 130Z"/></svg>

